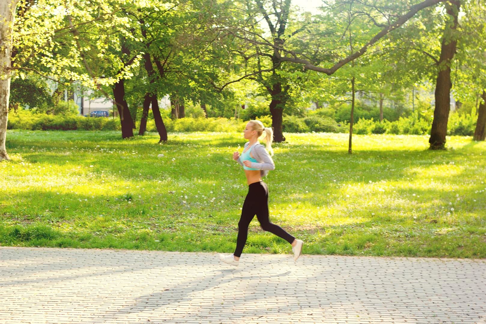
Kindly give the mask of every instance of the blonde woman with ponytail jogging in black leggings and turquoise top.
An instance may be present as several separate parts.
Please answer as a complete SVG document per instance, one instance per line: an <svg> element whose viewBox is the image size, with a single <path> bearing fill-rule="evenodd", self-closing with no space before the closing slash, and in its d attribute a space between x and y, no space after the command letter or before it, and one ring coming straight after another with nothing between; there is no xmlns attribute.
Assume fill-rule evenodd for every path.
<svg viewBox="0 0 486 324"><path fill-rule="evenodd" d="M229 256L220 255L220 259L223 262L233 266L237 266L240 263L240 256L248 235L248 226L255 215L257 215L261 228L278 235L292 245L294 260L300 256L304 243L302 240L295 239L292 235L285 232L280 226L272 224L269 220L268 187L261 181L261 178L269 170L275 170L275 164L270 154L258 140L262 134L265 134L268 152L273 155L273 131L269 127L263 127L260 120L250 120L246 124L244 138L248 139L248 142L244 144L241 156L238 152L233 153L233 159L243 167L248 183L248 194L243 203L240 222L238 222L238 239L235 253Z"/></svg>

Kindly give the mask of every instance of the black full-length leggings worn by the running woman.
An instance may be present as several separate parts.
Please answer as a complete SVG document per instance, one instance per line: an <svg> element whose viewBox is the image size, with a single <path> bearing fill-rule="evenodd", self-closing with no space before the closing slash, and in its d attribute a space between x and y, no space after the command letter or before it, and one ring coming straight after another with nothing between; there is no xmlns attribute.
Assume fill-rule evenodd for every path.
<svg viewBox="0 0 486 324"><path fill-rule="evenodd" d="M255 214L263 230L278 235L292 244L295 238L285 232L280 226L272 224L268 219L267 184L263 181L254 182L248 186L248 194L243 203L242 217L240 218L240 222L238 222L238 239L236 241L234 256L240 257L242 255L243 246L248 236L248 226Z"/></svg>

